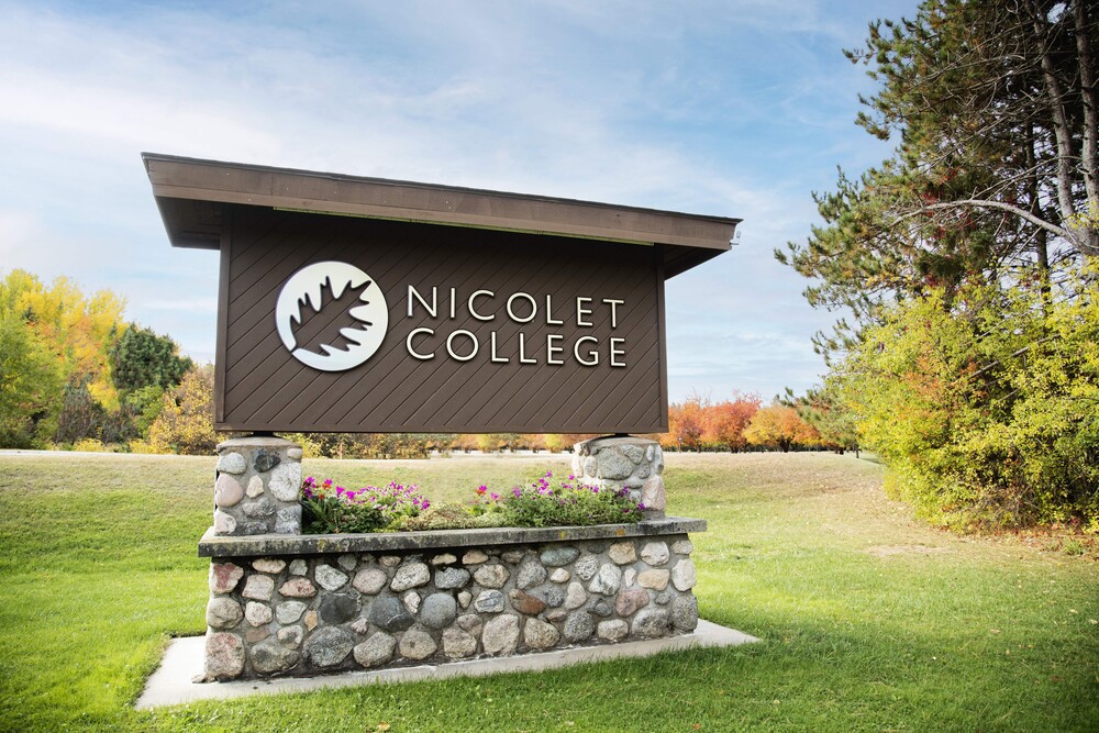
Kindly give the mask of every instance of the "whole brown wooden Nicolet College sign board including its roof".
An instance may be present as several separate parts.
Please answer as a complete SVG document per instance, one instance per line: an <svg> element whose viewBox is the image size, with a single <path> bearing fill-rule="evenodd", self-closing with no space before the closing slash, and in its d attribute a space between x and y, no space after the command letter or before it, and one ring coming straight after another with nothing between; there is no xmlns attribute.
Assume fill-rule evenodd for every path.
<svg viewBox="0 0 1099 733"><path fill-rule="evenodd" d="M715 220L726 238L706 249L663 241L711 223L682 214L462 189L421 198L415 185L393 204L391 188L378 195L388 182L146 165L174 243L221 251L215 424L226 430L665 431L664 280L728 248L735 225ZM296 186L312 198L286 193ZM315 211L317 196L337 211L300 210ZM410 202L426 221L378 210ZM356 206L371 209L346 215ZM612 236L626 220L629 234Z"/></svg>

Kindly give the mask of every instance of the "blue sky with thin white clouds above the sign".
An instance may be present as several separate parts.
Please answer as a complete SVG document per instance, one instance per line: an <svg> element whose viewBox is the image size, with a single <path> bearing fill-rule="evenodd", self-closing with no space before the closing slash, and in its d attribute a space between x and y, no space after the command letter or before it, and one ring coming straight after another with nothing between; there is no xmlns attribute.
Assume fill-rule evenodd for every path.
<svg viewBox="0 0 1099 733"><path fill-rule="evenodd" d="M218 257L174 249L140 153L737 216L668 282L674 401L822 371L771 252L888 145L841 49L915 2L0 1L0 276L110 288L213 358Z"/></svg>

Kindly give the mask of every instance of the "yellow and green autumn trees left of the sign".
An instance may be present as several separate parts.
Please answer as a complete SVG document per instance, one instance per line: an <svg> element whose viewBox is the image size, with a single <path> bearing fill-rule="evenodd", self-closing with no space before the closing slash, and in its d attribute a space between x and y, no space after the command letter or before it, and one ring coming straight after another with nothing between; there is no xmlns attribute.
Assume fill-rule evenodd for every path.
<svg viewBox="0 0 1099 733"><path fill-rule="evenodd" d="M204 375L170 337L126 322L124 306L65 277L0 280L0 447L157 448L179 389Z"/></svg>

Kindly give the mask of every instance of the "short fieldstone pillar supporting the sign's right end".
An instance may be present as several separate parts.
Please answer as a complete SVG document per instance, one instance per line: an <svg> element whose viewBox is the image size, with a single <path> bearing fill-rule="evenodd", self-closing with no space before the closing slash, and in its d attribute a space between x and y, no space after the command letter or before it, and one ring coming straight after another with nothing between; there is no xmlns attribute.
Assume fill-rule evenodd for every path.
<svg viewBox="0 0 1099 733"><path fill-rule="evenodd" d="M645 519L662 519L667 503L664 491L664 452L647 437L593 437L577 443L573 474L585 484L600 488L630 489L635 501L645 504Z"/></svg>

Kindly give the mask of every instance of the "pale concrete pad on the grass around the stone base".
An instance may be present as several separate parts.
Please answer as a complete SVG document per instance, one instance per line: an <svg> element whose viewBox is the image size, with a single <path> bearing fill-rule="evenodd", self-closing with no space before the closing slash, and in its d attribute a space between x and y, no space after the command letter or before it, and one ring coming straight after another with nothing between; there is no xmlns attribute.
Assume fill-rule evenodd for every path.
<svg viewBox="0 0 1099 733"><path fill-rule="evenodd" d="M238 682L193 682L202 674L206 648L204 636L177 638L168 646L164 660L145 685L136 708L145 710L162 706L182 704L198 700L227 700L249 695L278 695L281 692L308 692L325 688L354 687L377 682L406 682L446 679L448 677L484 677L497 673L540 671L556 669L588 662L644 657L659 652L690 649L714 646L737 646L757 642L732 629L699 619L698 629L692 634L654 638L651 641L602 644L567 649L552 649L511 657L447 662L437 665L379 669L376 671L347 671L320 677L280 677L271 680L246 680Z"/></svg>

